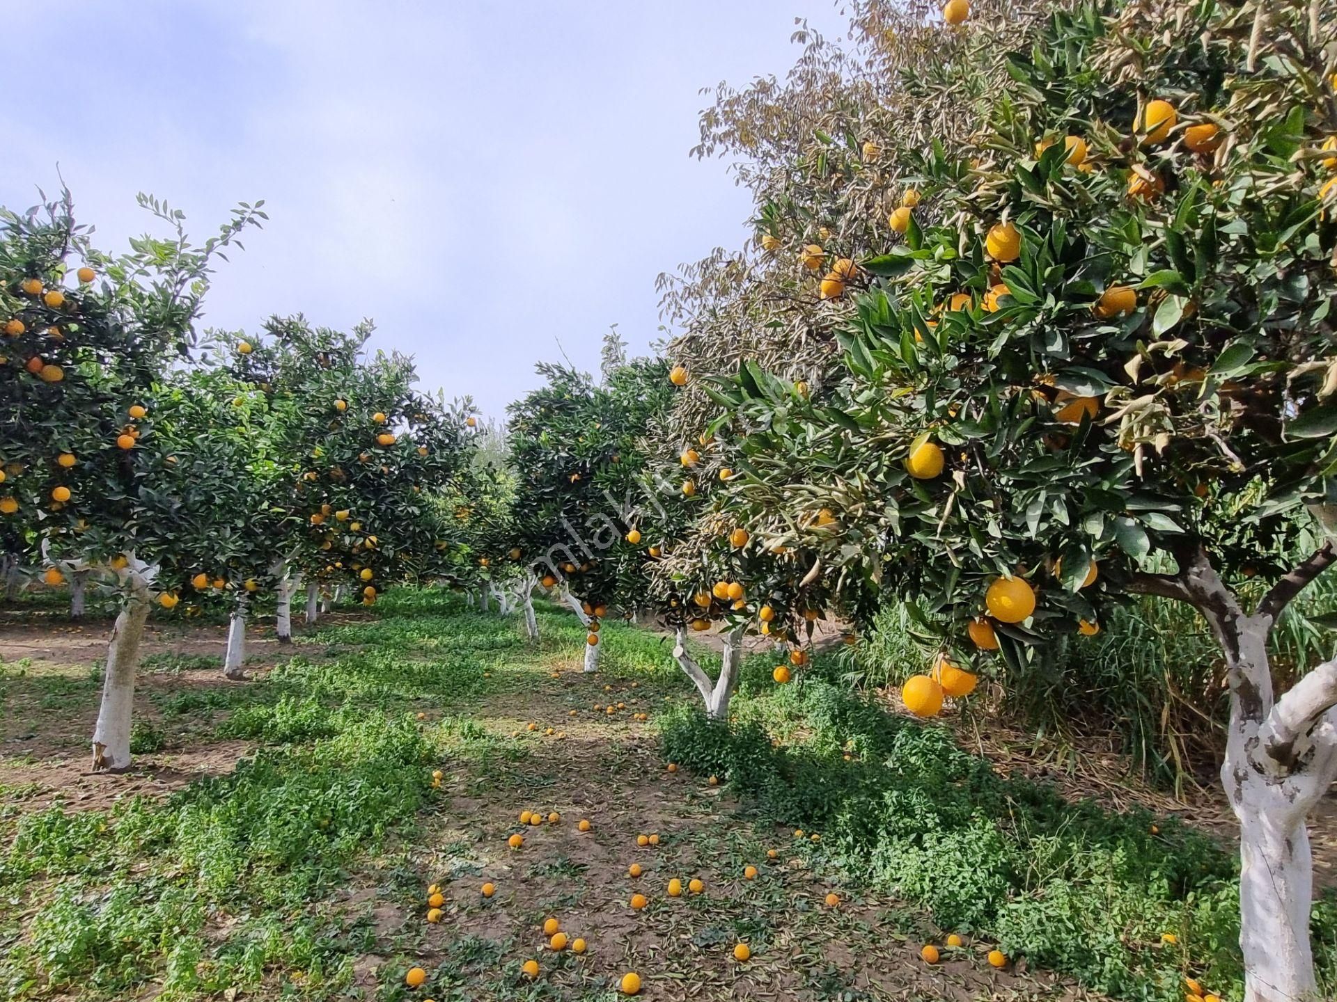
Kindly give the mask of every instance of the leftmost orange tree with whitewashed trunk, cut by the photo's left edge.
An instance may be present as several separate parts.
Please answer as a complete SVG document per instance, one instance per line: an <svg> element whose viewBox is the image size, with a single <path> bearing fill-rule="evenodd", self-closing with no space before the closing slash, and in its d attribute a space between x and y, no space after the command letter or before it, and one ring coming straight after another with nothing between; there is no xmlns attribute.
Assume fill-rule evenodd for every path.
<svg viewBox="0 0 1337 1002"><path fill-rule="evenodd" d="M139 643L155 580L185 540L162 493L179 457L159 448L154 397L167 362L189 357L214 254L263 218L242 206L197 247L179 211L140 204L171 236L131 240L120 257L91 247L68 192L0 211L0 520L41 554L48 582L99 569L120 593L95 768L130 764Z"/></svg>

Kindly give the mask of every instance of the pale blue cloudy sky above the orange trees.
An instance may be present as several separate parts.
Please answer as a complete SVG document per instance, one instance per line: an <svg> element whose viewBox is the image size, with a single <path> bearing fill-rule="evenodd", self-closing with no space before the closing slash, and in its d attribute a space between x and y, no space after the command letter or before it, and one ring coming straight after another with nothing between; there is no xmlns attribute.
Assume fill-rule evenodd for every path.
<svg viewBox="0 0 1337 1002"><path fill-rule="evenodd" d="M5 4L0 204L70 186L103 250L199 240L238 202L203 327L303 313L417 359L489 418L533 365L598 371L610 325L664 335L655 278L747 236L747 192L697 160L701 88L783 75L832 0L83 0ZM45 44L43 44L45 40ZM59 174L57 174L59 168Z"/></svg>

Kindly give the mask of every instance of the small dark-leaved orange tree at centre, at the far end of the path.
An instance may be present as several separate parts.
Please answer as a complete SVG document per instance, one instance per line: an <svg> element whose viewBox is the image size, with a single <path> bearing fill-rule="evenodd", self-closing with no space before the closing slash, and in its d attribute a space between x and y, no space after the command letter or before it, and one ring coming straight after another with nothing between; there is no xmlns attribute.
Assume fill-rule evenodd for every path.
<svg viewBox="0 0 1337 1002"><path fill-rule="evenodd" d="M509 409L508 549L529 568L531 589L559 588L590 627L586 671L595 671L602 619L614 607L630 615L644 596L640 541L658 516L640 488L643 440L673 387L663 363L647 359L614 366L603 385L564 366L539 373L547 385Z"/></svg>

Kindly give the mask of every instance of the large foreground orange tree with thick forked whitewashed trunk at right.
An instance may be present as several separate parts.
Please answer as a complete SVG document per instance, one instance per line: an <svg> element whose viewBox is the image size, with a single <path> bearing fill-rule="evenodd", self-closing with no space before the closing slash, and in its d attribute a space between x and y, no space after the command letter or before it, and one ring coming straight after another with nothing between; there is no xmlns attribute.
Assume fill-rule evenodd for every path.
<svg viewBox="0 0 1337 1002"><path fill-rule="evenodd" d="M881 138L889 198L916 196L821 279L818 389L710 382L742 437L729 504L778 534L820 477L841 588L941 635L904 691L925 716L972 684L956 665L1025 672L1126 596L1195 608L1230 691L1245 997L1317 998L1305 819L1337 779L1337 660L1278 672L1267 639L1334 561L1333 23L1102 13L1008 53L971 143Z"/></svg>

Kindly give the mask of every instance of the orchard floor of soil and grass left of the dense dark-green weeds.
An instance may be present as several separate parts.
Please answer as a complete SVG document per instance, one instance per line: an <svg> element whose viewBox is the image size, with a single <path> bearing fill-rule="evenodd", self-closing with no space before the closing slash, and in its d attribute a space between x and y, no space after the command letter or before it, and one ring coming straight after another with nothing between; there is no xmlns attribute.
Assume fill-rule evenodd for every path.
<svg viewBox="0 0 1337 1002"><path fill-rule="evenodd" d="M636 971L647 999L1098 998L1024 963L995 970L983 942L925 965L920 947L941 946L945 930L844 884L820 843L757 822L726 788L668 774L654 717L690 693L658 637L610 631L603 669L584 675L583 631L558 609L541 611L544 640L532 648L519 623L455 603L385 605L384 619L336 613L294 648L255 631L243 684L218 671L221 624L164 617L136 697L138 766L120 776L87 772L106 623L52 633L9 616L7 997L586 999L612 998L616 979ZM624 708L595 709L608 703ZM642 712L648 721L634 719ZM358 759L373 737L350 731L340 744L349 720L376 716L400 728L400 744L421 743L389 775L382 760ZM342 762L328 760L336 745ZM257 752L267 779L237 768ZM433 768L444 774L436 790ZM295 803L279 803L289 792ZM128 810L135 796L147 810ZM345 820L349 798L365 800ZM201 800L206 824L189 814ZM560 820L521 828L523 810ZM336 834L377 812L348 840ZM297 831L271 831L294 822ZM328 852L324 835L312 840L317 828ZM520 831L524 846L511 850ZM230 842L201 844L210 832ZM638 847L642 834L658 844ZM313 848L275 863L301 840ZM632 863L643 868L635 879ZM670 898L675 876L699 878L705 891ZM484 882L496 884L491 899ZM440 923L425 921L432 883L445 895ZM643 911L628 906L638 891ZM825 903L832 891L837 907ZM548 916L587 953L550 950ZM746 963L734 959L738 943L751 949ZM531 958L536 981L520 973ZM410 991L414 965L428 981Z"/></svg>

